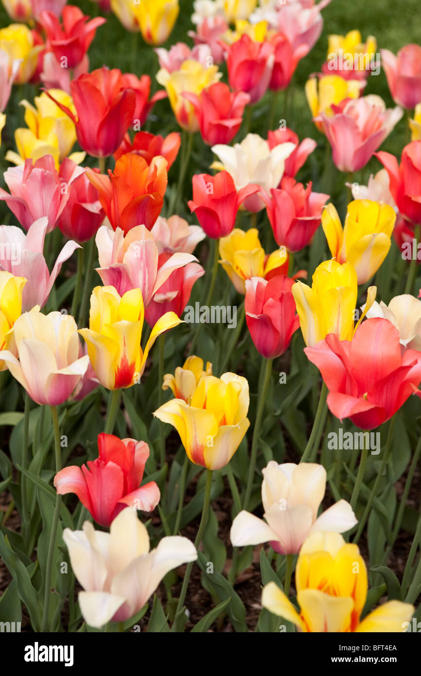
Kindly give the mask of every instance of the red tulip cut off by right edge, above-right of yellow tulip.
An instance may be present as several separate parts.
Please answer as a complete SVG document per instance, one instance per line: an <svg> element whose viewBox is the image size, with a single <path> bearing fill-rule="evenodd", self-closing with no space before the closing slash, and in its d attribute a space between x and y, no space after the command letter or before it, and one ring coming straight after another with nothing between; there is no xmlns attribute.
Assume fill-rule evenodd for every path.
<svg viewBox="0 0 421 676"><path fill-rule="evenodd" d="M389 190L402 216L412 223L421 223L421 141L412 141L402 151L401 164L395 155L374 153L389 174Z"/></svg>

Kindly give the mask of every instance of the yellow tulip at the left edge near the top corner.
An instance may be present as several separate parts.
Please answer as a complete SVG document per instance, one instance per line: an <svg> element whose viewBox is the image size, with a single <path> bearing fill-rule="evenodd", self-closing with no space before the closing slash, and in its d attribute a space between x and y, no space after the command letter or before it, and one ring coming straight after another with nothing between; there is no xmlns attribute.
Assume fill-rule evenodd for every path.
<svg viewBox="0 0 421 676"><path fill-rule="evenodd" d="M10 64L15 59L21 59L15 84L29 82L36 70L38 55L43 45L34 45L34 37L28 26L10 24L6 28L0 28L0 49L7 53Z"/></svg>

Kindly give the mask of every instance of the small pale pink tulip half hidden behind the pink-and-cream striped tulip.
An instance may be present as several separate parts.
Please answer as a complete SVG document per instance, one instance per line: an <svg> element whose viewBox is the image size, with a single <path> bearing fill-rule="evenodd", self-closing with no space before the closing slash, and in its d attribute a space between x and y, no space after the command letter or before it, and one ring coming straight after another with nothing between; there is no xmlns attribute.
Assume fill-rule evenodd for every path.
<svg viewBox="0 0 421 676"><path fill-rule="evenodd" d="M196 245L205 239L206 235L199 225L189 225L187 220L180 216L162 218L158 216L151 228L151 235L159 254L193 254Z"/></svg>

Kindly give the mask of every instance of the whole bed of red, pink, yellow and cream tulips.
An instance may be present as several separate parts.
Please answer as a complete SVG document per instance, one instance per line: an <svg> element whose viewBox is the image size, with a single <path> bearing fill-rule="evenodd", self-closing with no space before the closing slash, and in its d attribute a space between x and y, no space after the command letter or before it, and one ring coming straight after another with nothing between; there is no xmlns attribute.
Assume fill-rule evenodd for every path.
<svg viewBox="0 0 421 676"><path fill-rule="evenodd" d="M0 556L11 576L0 619L13 621L23 603L34 631L140 622L184 631L196 562L210 607L247 631L234 587L255 546L268 543L259 631L280 622L287 631L404 631L421 589L418 512L403 579L382 566L385 583L369 596L357 543L383 529L385 546L369 546L370 562L391 554L421 452L420 441L395 477L399 410L421 397L418 261L403 256L420 241L421 47L380 49L396 104L387 108L366 93L376 39L330 35L326 62L305 85L316 141L274 118L329 0L195 0L193 46L169 49L161 45L178 0L96 0L92 19L66 0L2 2L11 21L0 28L1 153L10 163L0 187L3 441L13 431L10 453L0 452ZM116 18L154 49L153 74L111 63L90 70L95 34ZM31 100L19 100L23 86ZM18 100L26 126L10 128ZM251 132L262 101L264 136ZM174 130L146 130L168 103ZM399 163L379 149L405 110L411 140ZM345 210L296 178L318 145L341 176ZM198 173L210 151L213 173ZM355 183L372 158L378 172ZM397 252L402 285L386 304L382 266ZM234 299L234 330L221 325L217 339L201 323L192 330L183 320L191 297L205 309ZM300 369L311 376L287 396L274 375L291 363L287 383ZM343 420L363 441L351 459L330 462L325 439ZM303 421L307 441L297 448L288 435L301 439L294 428ZM374 464L369 433L387 421ZM272 448L279 435L283 453ZM383 506L410 459L401 503L393 493ZM222 491L231 505L226 566L212 546ZM194 543L181 535L192 521ZM213 608L196 631L216 617Z"/></svg>

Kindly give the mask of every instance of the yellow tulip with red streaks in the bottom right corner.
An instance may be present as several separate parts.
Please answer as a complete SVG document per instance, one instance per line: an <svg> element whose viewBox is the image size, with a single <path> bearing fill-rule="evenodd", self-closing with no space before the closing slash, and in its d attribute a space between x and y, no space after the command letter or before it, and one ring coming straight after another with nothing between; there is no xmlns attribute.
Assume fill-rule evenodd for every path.
<svg viewBox="0 0 421 676"><path fill-rule="evenodd" d="M399 632L414 606L389 601L360 619L368 592L367 569L357 545L338 533L312 533L299 554L295 571L299 612L270 582L262 606L304 632Z"/></svg>

